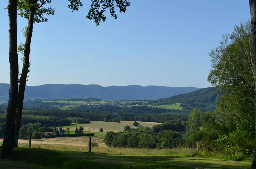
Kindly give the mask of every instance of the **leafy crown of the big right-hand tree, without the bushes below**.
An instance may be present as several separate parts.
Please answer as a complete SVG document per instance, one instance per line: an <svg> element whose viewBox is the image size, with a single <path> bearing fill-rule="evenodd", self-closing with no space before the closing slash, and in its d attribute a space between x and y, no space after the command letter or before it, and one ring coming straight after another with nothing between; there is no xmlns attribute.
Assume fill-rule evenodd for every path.
<svg viewBox="0 0 256 169"><path fill-rule="evenodd" d="M212 70L208 81L220 93L214 111L221 118L223 133L241 129L254 132L255 92L252 34L249 21L234 26L231 34L223 35L220 45L212 49Z"/></svg>

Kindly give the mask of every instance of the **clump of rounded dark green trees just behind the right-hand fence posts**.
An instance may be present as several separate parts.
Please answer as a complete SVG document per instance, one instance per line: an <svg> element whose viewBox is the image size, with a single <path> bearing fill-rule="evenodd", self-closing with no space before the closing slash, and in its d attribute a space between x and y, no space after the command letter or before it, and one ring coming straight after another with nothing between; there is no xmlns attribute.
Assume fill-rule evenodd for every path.
<svg viewBox="0 0 256 169"><path fill-rule="evenodd" d="M124 132L110 131L104 137L104 143L109 147L175 148L188 146L185 137L185 126L180 121L169 121L152 127L128 129Z"/></svg>

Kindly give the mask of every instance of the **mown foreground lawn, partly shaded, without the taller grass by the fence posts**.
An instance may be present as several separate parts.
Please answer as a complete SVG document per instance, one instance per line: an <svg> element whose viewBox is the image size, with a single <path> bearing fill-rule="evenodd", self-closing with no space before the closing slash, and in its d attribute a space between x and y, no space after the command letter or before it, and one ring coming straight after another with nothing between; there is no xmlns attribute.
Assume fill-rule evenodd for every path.
<svg viewBox="0 0 256 169"><path fill-rule="evenodd" d="M93 148L92 148L93 149ZM136 149L137 150L137 149ZM41 148L15 148L12 161L0 161L0 166L15 168L47 168L47 169L195 169L195 168L224 168L246 169L250 168L249 162L217 160L195 157L175 157L156 155L113 155L103 153L53 151ZM24 166L28 164L28 167ZM19 165L20 164L20 165ZM19 167L18 167L19 166ZM14 167L13 167L14 168Z"/></svg>

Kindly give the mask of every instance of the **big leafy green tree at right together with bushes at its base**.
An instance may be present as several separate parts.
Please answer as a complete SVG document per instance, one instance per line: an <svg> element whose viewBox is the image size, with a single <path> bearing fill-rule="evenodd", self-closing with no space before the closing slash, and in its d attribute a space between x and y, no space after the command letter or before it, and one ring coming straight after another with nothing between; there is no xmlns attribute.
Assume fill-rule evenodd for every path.
<svg viewBox="0 0 256 169"><path fill-rule="evenodd" d="M210 52L212 70L208 80L216 86L220 96L214 113L203 117L201 134L204 139L201 143L209 151L222 151L221 144L232 154L253 153L255 88L252 48L251 23L246 21L234 26L232 33L224 34L219 46Z"/></svg>

